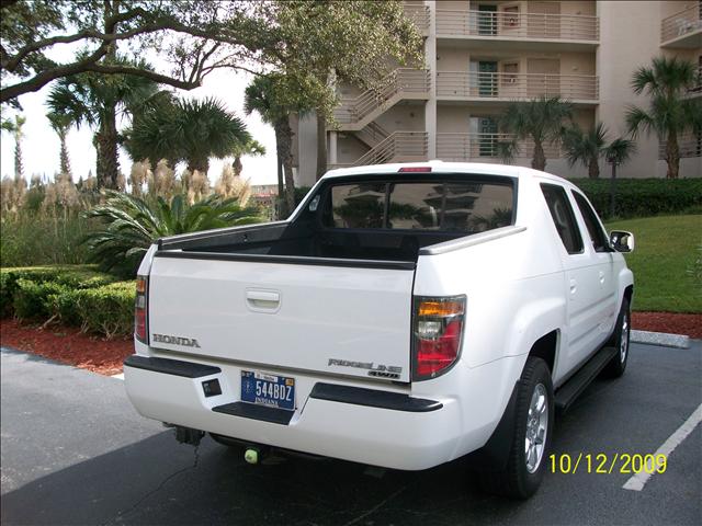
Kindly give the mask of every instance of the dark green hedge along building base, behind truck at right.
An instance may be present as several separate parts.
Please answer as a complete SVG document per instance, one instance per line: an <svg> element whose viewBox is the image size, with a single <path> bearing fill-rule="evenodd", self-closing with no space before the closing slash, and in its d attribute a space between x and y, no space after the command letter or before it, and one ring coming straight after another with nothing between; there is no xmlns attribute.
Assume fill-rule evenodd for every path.
<svg viewBox="0 0 702 526"><path fill-rule="evenodd" d="M609 178L571 179L600 216L610 217ZM702 210L702 179L618 179L614 216L648 217Z"/></svg>

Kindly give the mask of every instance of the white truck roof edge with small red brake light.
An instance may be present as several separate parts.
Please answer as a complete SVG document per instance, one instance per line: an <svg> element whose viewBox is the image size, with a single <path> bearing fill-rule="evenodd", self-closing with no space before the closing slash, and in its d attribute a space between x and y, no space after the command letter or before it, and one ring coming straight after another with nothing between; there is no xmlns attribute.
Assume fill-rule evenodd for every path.
<svg viewBox="0 0 702 526"><path fill-rule="evenodd" d="M501 175L509 178L541 178L551 179L561 183L567 181L553 173L542 172L525 167L510 164L490 164L486 162L444 162L439 160L422 162L401 162L393 164L370 164L365 167L339 168L328 171L324 179L361 175L367 173L397 173L401 168L431 167L431 173L472 173L480 175ZM427 172L405 172L406 175L427 176Z"/></svg>

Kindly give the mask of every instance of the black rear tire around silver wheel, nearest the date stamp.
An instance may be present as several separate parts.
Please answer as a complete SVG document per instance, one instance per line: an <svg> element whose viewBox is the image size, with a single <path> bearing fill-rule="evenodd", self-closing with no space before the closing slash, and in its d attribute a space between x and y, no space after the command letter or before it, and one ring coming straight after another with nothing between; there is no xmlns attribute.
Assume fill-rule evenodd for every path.
<svg viewBox="0 0 702 526"><path fill-rule="evenodd" d="M532 398L539 393L545 397L544 410L546 414L546 427L541 444L543 449L539 461L531 462L528 467L526 442L528 430L533 432L534 426L528 426ZM546 466L548 464L548 453L551 450L551 437L554 428L554 407L553 407L553 384L551 370L541 358L529 357L524 365L524 370L518 384L517 403L514 408L514 434L510 447L509 458L505 469L499 471L483 471L480 482L483 489L489 493L510 496L512 499L526 499L533 495L541 484ZM533 422L533 421L532 421ZM531 436L534 436L533 434ZM531 442L533 443L533 441ZM529 448L531 450L531 448Z"/></svg>

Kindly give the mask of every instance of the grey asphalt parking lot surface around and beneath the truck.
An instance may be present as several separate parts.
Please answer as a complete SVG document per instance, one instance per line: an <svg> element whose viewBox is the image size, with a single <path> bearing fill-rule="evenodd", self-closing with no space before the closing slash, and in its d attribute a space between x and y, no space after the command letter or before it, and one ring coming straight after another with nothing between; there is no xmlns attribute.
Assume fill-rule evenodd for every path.
<svg viewBox="0 0 702 526"><path fill-rule="evenodd" d="M180 445L141 419L123 382L2 351L1 519L11 524L702 524L702 425L642 491L631 474L547 473L516 502L483 494L461 462L369 472L336 460L248 466L206 437ZM702 342L633 344L556 421L554 454L654 453L702 402ZM276 459L273 459L276 460Z"/></svg>

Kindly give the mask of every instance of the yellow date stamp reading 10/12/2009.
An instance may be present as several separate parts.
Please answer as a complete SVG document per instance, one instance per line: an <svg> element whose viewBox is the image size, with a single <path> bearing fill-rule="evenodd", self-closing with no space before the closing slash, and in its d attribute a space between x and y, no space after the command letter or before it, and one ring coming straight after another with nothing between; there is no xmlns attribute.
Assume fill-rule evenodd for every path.
<svg viewBox="0 0 702 526"><path fill-rule="evenodd" d="M611 473L664 473L668 467L665 454L630 454L630 453L568 453L552 454L548 457L553 473L575 474L577 472L593 474Z"/></svg>

